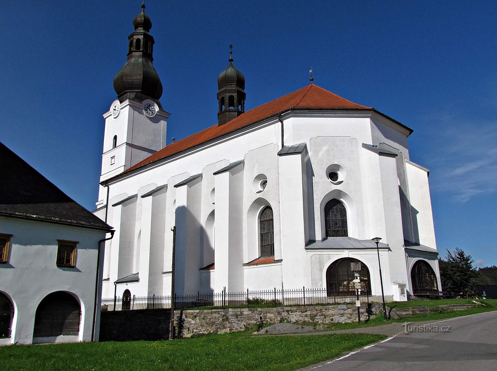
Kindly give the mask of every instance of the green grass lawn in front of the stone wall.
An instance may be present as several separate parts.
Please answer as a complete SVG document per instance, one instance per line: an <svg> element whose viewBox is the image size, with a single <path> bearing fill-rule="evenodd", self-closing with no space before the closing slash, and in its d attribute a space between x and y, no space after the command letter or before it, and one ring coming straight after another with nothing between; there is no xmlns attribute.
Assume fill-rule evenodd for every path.
<svg viewBox="0 0 497 371"><path fill-rule="evenodd" d="M1 370L295 370L385 338L371 334L260 337L0 347Z"/></svg>

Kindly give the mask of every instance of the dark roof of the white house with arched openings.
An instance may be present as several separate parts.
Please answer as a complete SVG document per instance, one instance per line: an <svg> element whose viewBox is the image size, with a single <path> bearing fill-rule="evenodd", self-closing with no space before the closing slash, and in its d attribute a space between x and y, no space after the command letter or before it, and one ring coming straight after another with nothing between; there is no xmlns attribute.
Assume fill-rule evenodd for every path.
<svg viewBox="0 0 497 371"><path fill-rule="evenodd" d="M0 216L112 229L2 143L0 170Z"/></svg>

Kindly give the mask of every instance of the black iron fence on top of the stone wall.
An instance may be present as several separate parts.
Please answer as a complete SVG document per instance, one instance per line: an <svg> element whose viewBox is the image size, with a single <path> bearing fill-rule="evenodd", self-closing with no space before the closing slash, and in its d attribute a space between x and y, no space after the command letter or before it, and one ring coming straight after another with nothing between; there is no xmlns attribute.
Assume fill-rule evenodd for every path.
<svg viewBox="0 0 497 371"><path fill-rule="evenodd" d="M345 294L345 295L344 295ZM225 309L225 308L261 308L291 305L325 305L355 303L357 295L327 289L302 289L250 291L238 293L200 293L192 295L175 295L176 309ZM361 291L361 302L369 302L369 293ZM102 298L101 310L160 309L171 307L171 296L149 297L112 297Z"/></svg>

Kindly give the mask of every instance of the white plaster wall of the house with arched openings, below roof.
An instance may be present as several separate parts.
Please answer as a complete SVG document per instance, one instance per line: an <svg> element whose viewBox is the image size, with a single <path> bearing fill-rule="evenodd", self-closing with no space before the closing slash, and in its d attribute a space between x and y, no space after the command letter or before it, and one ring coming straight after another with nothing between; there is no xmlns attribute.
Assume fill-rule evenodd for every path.
<svg viewBox="0 0 497 371"><path fill-rule="evenodd" d="M12 336L0 339L0 345L31 344L38 304L57 291L76 297L82 310L79 336L59 337L58 342L91 341L97 248L105 232L4 217L0 217L0 232L12 234L8 263L0 265L0 291L14 305ZM56 266L57 239L79 241L75 268Z"/></svg>

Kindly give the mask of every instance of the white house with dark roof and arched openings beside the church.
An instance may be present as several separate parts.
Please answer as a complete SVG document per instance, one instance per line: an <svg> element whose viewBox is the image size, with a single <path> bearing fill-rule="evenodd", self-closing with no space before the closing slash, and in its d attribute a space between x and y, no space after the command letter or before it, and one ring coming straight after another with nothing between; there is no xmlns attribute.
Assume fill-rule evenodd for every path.
<svg viewBox="0 0 497 371"><path fill-rule="evenodd" d="M0 345L98 340L111 227L1 143L0 169Z"/></svg>

